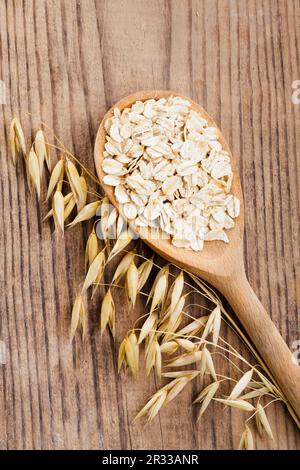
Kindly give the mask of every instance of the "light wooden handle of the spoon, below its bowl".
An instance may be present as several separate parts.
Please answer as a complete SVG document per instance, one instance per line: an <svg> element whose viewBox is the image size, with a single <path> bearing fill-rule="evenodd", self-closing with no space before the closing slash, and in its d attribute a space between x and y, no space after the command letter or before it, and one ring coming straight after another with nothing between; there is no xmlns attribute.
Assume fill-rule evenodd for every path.
<svg viewBox="0 0 300 470"><path fill-rule="evenodd" d="M258 300L246 275L243 273L222 287L220 290L300 419L300 365Z"/></svg>

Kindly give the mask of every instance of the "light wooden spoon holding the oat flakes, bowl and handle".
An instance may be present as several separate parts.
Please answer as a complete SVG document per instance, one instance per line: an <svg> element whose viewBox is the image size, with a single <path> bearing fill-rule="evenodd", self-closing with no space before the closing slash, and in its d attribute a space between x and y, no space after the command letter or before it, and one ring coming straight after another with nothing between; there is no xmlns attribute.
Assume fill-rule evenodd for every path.
<svg viewBox="0 0 300 470"><path fill-rule="evenodd" d="M210 126L217 127L214 120L201 106L189 98L171 91L141 91L126 96L116 103L106 113L100 124L95 144L95 164L105 193L120 213L122 213L122 210L114 197L114 188L103 183L105 174L102 170L102 160L106 136L104 122L113 115L114 108L119 108L122 111L138 100L145 101L150 98L166 98L171 95L181 96L189 100L193 109L199 112L208 121ZM240 216L235 219L234 228L226 231L229 238L228 244L221 241L205 242L204 249L200 252L195 252L176 248L168 239L163 238L162 234L158 237L157 231L137 227L133 222L130 225L163 258L200 276L224 294L256 346L261 358L271 370L289 404L296 412L298 418L300 418L300 367L293 362L292 353L247 280L243 257L243 194L236 160L233 158L221 132L219 140L223 148L231 156L231 165L234 172L231 193L241 201Z"/></svg>

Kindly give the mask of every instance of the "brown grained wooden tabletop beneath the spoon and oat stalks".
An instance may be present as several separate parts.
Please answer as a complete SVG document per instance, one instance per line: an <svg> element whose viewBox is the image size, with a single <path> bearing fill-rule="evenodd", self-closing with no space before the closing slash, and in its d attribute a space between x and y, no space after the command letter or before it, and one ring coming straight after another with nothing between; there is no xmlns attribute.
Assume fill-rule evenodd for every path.
<svg viewBox="0 0 300 470"><path fill-rule="evenodd" d="M291 102L299 54L298 0L0 0L0 448L236 448L244 419L216 404L195 425L195 384L149 426L132 425L156 380L117 376L115 347L97 330L99 300L86 343L78 336L70 345L87 232L57 240L41 222L46 207L8 157L12 113L20 107L28 137L42 118L92 168L99 121L122 96L171 88L201 103L239 162L249 278L291 345L299 339L300 105ZM144 311L128 317L123 300L119 339ZM281 405L269 418L275 439L256 435L257 448L300 448Z"/></svg>

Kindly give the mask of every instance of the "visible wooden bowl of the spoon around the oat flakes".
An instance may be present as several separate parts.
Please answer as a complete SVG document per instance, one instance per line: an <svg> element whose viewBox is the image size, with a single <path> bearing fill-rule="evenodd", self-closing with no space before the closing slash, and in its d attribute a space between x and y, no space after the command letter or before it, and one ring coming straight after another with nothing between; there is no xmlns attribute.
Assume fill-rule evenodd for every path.
<svg viewBox="0 0 300 470"><path fill-rule="evenodd" d="M122 208L119 206L115 196L114 188L112 186L105 185L103 178L105 173L102 169L103 151L105 144L106 131L104 128L105 121L113 116L114 108L123 110L124 108L131 107L136 101L145 101L146 99L160 99L168 98L169 96L180 96L183 99L190 101L192 109L197 111L201 117L207 120L209 126L216 127L217 125L214 120L207 114L207 112L197 103L183 95L174 93L171 91L141 91L134 93L133 95L123 98L116 103L104 116L99 131L97 134L96 146L95 146L95 164L97 174L100 183L105 190L105 193L109 197L112 204L118 209L118 211L124 216ZM162 231L155 229L144 228L137 226L134 221L128 221L131 228L137 235L142 238L154 251L162 255L168 261L177 264L178 266L184 267L194 274L200 275L203 279L208 282L214 283L214 279L223 278L228 276L229 271L235 269L234 263L232 262L237 256L239 257L238 262L242 260L243 252L243 232L244 232L244 209L243 209L243 195L239 179L239 173L237 169L236 160L233 158L230 148L220 132L219 141L222 147L229 153L231 158L231 166L233 170L233 181L231 193L239 198L241 201L240 215L235 219L235 226L233 229L226 231L229 238L229 243L222 241L205 242L202 251L195 252L186 248L177 248L170 242L169 238ZM125 216L124 216L124 219ZM226 269L224 269L226 267Z"/></svg>

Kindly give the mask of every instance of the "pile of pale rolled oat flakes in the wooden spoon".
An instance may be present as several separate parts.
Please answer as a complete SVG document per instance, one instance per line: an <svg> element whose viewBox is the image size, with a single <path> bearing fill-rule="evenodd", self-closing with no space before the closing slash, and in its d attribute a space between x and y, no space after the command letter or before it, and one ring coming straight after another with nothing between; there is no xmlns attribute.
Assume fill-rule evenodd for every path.
<svg viewBox="0 0 300 470"><path fill-rule="evenodd" d="M219 131L180 97L137 101L105 122L103 182L124 215L161 229L176 247L228 242L240 201L230 194L230 157Z"/></svg>

